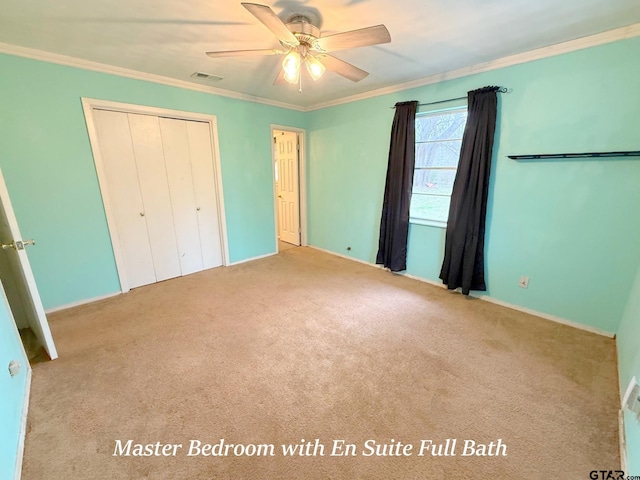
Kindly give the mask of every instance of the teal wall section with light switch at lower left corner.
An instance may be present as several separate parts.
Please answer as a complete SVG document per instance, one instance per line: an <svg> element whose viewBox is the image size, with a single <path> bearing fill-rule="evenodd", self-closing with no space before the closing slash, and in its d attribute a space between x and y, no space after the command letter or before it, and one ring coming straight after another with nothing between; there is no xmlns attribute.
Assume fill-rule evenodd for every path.
<svg viewBox="0 0 640 480"><path fill-rule="evenodd" d="M9 362L17 360L22 368L18 375L9 375ZM22 408L27 389L29 362L22 349L4 291L0 287L0 478L15 475Z"/></svg>

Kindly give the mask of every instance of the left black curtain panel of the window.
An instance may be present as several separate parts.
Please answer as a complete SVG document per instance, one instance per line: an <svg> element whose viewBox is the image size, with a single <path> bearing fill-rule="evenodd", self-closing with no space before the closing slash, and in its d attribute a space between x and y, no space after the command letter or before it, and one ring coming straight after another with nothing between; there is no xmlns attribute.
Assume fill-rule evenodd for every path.
<svg viewBox="0 0 640 480"><path fill-rule="evenodd" d="M413 188L413 166L416 163L417 110L417 101L396 103L396 114L391 127L376 263L392 272L407 269L409 205Z"/></svg>

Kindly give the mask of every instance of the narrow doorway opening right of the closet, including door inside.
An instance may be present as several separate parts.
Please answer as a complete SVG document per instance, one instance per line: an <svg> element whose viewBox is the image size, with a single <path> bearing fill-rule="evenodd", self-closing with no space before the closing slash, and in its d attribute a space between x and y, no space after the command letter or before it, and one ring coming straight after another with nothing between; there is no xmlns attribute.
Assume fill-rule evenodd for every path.
<svg viewBox="0 0 640 480"><path fill-rule="evenodd" d="M304 134L298 128L271 126L277 252L307 243Z"/></svg>

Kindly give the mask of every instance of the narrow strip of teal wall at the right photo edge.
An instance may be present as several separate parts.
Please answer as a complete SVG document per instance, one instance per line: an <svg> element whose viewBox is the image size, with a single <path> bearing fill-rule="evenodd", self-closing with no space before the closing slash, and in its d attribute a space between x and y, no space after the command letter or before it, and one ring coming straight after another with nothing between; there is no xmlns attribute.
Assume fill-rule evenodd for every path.
<svg viewBox="0 0 640 480"><path fill-rule="evenodd" d="M640 268L617 334L620 395L635 375L640 381ZM631 412L624 414L629 475L640 475L640 423Z"/></svg>

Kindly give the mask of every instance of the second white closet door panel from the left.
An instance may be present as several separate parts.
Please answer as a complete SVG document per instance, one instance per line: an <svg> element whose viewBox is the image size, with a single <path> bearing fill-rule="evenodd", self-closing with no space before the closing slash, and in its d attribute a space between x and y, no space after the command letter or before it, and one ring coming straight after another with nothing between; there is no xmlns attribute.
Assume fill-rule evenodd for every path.
<svg viewBox="0 0 640 480"><path fill-rule="evenodd" d="M162 281L179 277L178 243L158 117L130 113L129 127L156 278Z"/></svg>

